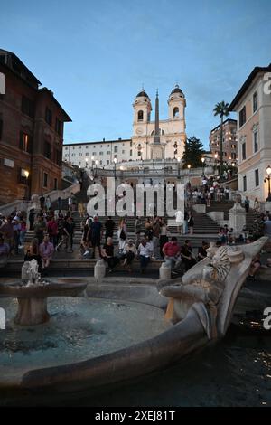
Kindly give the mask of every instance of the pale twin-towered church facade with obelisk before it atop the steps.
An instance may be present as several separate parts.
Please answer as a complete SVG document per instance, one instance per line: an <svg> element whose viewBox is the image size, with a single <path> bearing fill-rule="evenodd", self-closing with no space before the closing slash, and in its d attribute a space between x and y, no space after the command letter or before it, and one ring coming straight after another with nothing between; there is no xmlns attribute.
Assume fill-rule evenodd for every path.
<svg viewBox="0 0 271 425"><path fill-rule="evenodd" d="M168 118L159 118L158 92L155 99L155 119L151 120L152 103L141 90L133 103L133 159L173 159L182 157L185 134L186 99L178 85L169 95Z"/></svg>

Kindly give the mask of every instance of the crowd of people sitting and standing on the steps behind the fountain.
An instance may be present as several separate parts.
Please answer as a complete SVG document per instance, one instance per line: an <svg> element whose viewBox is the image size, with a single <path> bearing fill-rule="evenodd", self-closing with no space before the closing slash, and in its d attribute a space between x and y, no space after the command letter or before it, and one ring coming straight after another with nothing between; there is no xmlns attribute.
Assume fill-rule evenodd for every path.
<svg viewBox="0 0 271 425"><path fill-rule="evenodd" d="M210 203L210 200L229 200L229 189L220 187L216 182L202 180L200 188L192 188L187 184L185 191L184 214L175 213L178 232L182 234L193 233L192 203ZM67 252L73 252L73 237L75 222L73 213L79 212L81 218L81 241L80 249L83 258L104 259L107 261L109 271L112 272L117 265L122 265L131 271L135 258L140 260L140 269L144 273L149 262L164 260L175 273L175 270L190 269L198 260L206 257L208 243L203 241L197 255L193 253L191 242L187 239L181 246L175 236L171 235L164 217L156 215L142 218L136 217L134 223L134 239L128 237L126 218L115 223L111 217L102 224L98 214L89 217L86 213L86 205L77 203L74 194L68 199L68 211L62 213L62 200L57 200L58 210L51 207L49 196L40 198L39 211L30 210L28 216L25 212L14 211L7 217L0 216L0 260L13 254L23 253L24 260L35 259L41 270L45 273L50 266L53 253L63 248ZM244 201L246 212L249 212L250 203L248 197ZM253 205L257 219L254 223L254 239L266 234L271 238L271 214L259 213L257 199ZM179 214L179 215L178 215ZM27 222L29 224L27 224ZM179 225L178 225L179 224ZM27 228L33 231L33 240L28 246L25 244ZM174 231L175 232L175 231ZM117 237L117 245L114 246L114 236ZM220 227L218 243L235 244L249 242L252 238L244 229L237 238L233 229L225 224ZM255 274L259 262L256 261L252 275Z"/></svg>

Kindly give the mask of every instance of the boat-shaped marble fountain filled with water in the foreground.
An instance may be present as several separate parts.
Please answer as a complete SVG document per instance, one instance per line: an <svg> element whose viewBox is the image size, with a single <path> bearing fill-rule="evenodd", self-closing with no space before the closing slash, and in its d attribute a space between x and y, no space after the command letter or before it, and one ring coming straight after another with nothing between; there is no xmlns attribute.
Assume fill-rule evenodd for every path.
<svg viewBox="0 0 271 425"><path fill-rule="evenodd" d="M151 297L144 285L134 297L109 299L102 285L87 297L86 279L42 281L35 262L26 264L22 281L0 284L0 404L95 392L219 341L265 243L211 248L182 278L158 281Z"/></svg>

